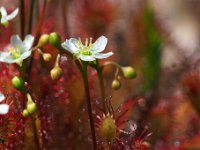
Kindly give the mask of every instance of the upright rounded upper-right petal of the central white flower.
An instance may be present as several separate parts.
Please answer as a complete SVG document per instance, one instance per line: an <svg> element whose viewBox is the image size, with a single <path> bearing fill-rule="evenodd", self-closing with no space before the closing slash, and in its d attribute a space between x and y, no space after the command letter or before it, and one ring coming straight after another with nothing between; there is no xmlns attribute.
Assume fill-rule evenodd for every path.
<svg viewBox="0 0 200 150"><path fill-rule="evenodd" d="M92 46L92 51L95 53L102 52L108 43L108 39L105 36L99 37Z"/></svg>

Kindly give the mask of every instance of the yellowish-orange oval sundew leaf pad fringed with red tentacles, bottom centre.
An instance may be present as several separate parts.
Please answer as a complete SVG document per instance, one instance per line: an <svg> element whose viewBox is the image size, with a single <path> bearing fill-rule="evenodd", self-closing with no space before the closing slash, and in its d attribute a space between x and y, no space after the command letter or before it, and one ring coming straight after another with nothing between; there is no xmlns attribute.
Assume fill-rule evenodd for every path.
<svg viewBox="0 0 200 150"><path fill-rule="evenodd" d="M117 126L115 120L111 116L106 116L103 118L99 126L99 132L101 138L107 142L115 139L117 135Z"/></svg>

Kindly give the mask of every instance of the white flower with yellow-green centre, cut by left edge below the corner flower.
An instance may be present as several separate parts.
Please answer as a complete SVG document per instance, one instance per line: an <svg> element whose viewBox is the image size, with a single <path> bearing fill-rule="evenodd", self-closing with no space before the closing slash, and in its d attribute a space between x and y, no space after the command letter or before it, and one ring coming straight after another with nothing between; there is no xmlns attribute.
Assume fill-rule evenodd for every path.
<svg viewBox="0 0 200 150"><path fill-rule="evenodd" d="M33 42L32 35L27 35L24 41L18 35L13 35L10 40L11 46L0 52L0 61L9 64L17 63L21 66L23 60L31 55L32 50L30 49Z"/></svg>

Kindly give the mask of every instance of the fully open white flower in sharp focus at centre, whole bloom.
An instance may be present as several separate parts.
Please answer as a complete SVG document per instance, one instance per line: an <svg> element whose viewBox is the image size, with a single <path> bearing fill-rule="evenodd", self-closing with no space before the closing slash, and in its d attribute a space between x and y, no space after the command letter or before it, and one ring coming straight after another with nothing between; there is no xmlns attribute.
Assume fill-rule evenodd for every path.
<svg viewBox="0 0 200 150"><path fill-rule="evenodd" d="M83 61L94 61L113 55L113 52L100 53L105 49L107 42L108 39L105 36L99 37L94 43L92 43L92 38L90 38L90 42L86 39L85 45L82 44L80 39L70 38L62 43L62 47Z"/></svg>

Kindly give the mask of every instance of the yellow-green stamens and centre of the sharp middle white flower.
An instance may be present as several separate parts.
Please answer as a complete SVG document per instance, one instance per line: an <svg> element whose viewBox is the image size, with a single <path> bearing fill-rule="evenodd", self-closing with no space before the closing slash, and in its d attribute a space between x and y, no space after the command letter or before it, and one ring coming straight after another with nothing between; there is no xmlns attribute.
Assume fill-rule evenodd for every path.
<svg viewBox="0 0 200 150"><path fill-rule="evenodd" d="M85 40L85 45L82 44L81 39L78 41L78 48L80 49L80 54L91 56L91 47L92 47L92 38L90 38L90 42L88 39Z"/></svg>

